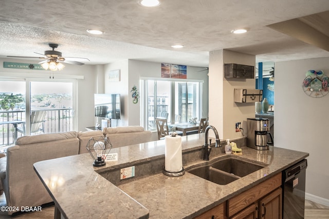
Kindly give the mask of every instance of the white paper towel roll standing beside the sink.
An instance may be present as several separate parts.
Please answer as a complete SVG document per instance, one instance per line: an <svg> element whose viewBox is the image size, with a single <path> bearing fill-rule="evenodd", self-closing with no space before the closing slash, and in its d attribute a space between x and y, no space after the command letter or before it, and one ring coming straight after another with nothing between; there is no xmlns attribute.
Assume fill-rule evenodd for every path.
<svg viewBox="0 0 329 219"><path fill-rule="evenodd" d="M181 137L165 136L165 170L167 172L178 172L183 168L181 157Z"/></svg>

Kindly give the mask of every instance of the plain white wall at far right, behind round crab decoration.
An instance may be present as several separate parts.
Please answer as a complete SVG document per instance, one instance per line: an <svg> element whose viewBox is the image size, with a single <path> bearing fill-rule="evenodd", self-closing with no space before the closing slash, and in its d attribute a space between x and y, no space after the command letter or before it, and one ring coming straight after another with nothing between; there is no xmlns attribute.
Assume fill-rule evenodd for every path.
<svg viewBox="0 0 329 219"><path fill-rule="evenodd" d="M306 193L329 205L329 95L308 97L302 88L307 70L329 76L329 58L275 63L275 145L309 153ZM319 201L319 200L318 200Z"/></svg>

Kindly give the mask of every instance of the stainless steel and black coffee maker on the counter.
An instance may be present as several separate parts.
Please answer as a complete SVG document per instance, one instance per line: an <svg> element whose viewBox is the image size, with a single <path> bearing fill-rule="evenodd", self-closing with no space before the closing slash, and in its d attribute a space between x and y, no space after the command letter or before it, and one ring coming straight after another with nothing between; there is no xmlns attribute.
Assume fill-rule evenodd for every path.
<svg viewBox="0 0 329 219"><path fill-rule="evenodd" d="M268 150L269 145L273 145L273 137L269 132L269 120L247 119L247 146L257 150Z"/></svg>

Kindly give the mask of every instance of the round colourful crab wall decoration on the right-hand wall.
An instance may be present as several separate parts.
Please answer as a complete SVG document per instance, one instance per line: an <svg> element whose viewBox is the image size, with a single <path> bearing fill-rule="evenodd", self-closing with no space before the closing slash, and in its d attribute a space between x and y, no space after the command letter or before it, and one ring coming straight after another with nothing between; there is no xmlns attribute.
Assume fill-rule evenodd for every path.
<svg viewBox="0 0 329 219"><path fill-rule="evenodd" d="M302 86L308 96L323 97L329 92L329 78L322 70L308 70Z"/></svg>

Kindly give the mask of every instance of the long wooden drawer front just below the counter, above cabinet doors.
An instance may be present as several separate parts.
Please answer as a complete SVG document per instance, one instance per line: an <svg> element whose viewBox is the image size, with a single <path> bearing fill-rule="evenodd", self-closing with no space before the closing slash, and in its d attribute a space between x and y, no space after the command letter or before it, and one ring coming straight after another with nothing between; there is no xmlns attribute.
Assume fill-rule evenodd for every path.
<svg viewBox="0 0 329 219"><path fill-rule="evenodd" d="M261 182L259 185L228 200L228 215L231 217L254 202L279 188L282 184L281 173Z"/></svg>

